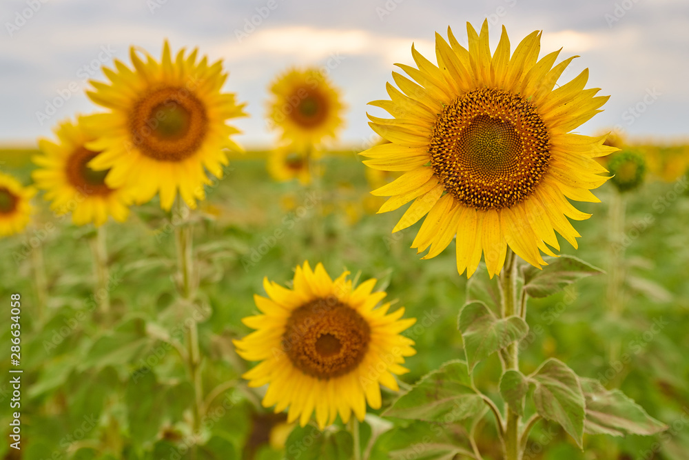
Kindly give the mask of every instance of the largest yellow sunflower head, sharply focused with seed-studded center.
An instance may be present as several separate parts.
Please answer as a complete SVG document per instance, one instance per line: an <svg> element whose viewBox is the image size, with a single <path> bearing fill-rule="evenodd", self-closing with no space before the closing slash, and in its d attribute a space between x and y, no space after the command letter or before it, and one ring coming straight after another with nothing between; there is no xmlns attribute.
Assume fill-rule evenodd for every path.
<svg viewBox="0 0 689 460"><path fill-rule="evenodd" d="M568 201L599 200L589 191L606 181L595 157L617 150L605 136L570 134L608 97L584 90L588 69L553 90L573 58L553 67L559 51L537 60L540 33L528 35L510 57L505 28L491 56L488 22L481 33L467 24L469 49L448 28L436 34L438 66L412 46L418 68L398 64L417 83L393 72L400 90L371 105L393 119L372 117L371 128L391 143L362 152L367 166L402 171L372 193L391 197L387 212L413 200L393 232L428 214L413 248L440 254L457 235L457 270L471 277L483 252L489 274L500 273L507 246L540 268L541 253L559 250L555 231L577 247L566 217L588 219ZM540 251L539 251L540 250Z"/></svg>

